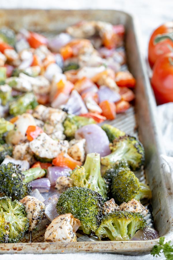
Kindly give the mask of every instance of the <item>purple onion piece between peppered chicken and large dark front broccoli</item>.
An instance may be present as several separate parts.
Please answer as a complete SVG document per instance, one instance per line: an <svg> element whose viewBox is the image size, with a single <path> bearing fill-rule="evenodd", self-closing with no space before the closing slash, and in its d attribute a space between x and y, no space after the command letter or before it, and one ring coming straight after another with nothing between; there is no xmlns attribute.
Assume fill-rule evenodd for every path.
<svg viewBox="0 0 173 260"><path fill-rule="evenodd" d="M54 218L58 216L57 209L56 209L57 202L58 202L58 196L56 194L54 194L52 197L44 201L44 204L46 206L44 214L46 218L48 218L48 220L50 221L52 221Z"/></svg>

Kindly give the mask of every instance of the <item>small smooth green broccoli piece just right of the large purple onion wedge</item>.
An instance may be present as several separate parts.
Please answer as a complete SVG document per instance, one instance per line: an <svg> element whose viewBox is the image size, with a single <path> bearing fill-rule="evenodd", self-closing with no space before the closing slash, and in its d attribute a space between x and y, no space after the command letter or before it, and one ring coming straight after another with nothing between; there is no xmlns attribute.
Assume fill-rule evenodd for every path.
<svg viewBox="0 0 173 260"><path fill-rule="evenodd" d="M106 132L110 143L112 143L115 138L125 135L125 132L113 127L112 125L103 124L101 128Z"/></svg>

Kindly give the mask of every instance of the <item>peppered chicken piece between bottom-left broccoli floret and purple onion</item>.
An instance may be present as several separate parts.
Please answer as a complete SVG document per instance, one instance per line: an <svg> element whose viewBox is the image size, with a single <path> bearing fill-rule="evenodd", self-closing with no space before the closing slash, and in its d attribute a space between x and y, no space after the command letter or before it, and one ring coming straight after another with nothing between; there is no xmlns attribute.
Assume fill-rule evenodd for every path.
<svg viewBox="0 0 173 260"><path fill-rule="evenodd" d="M45 205L43 202L32 196L26 196L25 198L22 198L20 202L24 205L27 218L29 219L28 230L32 231L42 220L45 211Z"/></svg>

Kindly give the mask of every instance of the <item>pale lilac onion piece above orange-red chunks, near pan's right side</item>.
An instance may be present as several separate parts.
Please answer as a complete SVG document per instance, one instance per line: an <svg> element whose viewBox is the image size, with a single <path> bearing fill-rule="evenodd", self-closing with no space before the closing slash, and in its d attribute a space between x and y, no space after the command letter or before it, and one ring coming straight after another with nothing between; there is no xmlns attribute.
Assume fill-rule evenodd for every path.
<svg viewBox="0 0 173 260"><path fill-rule="evenodd" d="M121 100L121 96L118 92L115 92L114 90L111 90L106 86L101 86L99 88L98 95L99 95L99 103L104 100L108 100L109 102L117 102Z"/></svg>

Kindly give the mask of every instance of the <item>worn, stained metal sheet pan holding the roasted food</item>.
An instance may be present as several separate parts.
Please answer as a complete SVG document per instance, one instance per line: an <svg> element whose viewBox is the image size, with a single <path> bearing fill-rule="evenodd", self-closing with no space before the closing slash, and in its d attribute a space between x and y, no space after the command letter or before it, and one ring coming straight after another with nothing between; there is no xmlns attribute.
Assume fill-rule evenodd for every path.
<svg viewBox="0 0 173 260"><path fill-rule="evenodd" d="M146 74L144 60L140 53L136 23L129 14L114 10L0 10L1 26L8 26L16 31L26 28L33 31L59 32L80 20L101 20L112 24L122 23L126 27L127 61L130 71L137 80L136 86L136 121L133 109L126 115L118 116L111 121L128 133L138 129L140 140L146 151L146 180L149 183L153 198L153 218L155 227L161 236L173 239L173 194L170 173L161 167L159 155L164 153L156 129L155 100L151 92ZM163 166L163 165L162 165ZM43 219L44 226L49 224ZM78 242L74 243L43 243L44 229L33 232L32 243L0 244L0 253L68 253L68 252L111 252L126 255L147 254L157 244L158 239L150 241L101 241L89 237L83 241L78 233ZM24 243L25 242L25 243ZM39 242L39 243L38 243Z"/></svg>

